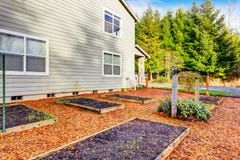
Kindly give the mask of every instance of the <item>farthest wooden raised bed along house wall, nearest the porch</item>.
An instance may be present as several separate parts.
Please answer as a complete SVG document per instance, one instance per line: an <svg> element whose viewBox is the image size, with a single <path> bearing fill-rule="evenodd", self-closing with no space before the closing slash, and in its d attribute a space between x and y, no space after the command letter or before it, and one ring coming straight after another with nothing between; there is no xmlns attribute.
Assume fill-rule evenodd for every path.
<svg viewBox="0 0 240 160"><path fill-rule="evenodd" d="M107 94L107 95L102 95L102 97L114 99L114 100L122 100L126 102L141 103L141 104L154 102L154 99L152 98L129 96L129 95L123 95L123 94Z"/></svg>

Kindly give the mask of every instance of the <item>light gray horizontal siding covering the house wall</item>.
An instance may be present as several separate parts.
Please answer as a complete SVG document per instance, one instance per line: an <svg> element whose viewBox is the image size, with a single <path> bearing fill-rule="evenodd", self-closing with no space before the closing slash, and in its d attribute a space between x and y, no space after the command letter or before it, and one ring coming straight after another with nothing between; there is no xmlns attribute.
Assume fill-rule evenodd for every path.
<svg viewBox="0 0 240 160"><path fill-rule="evenodd" d="M104 9L121 16L120 38L103 31ZM49 75L7 75L6 95L132 87L134 25L118 0L1 0L1 29L49 40ZM102 51L121 54L122 77L102 76Z"/></svg>

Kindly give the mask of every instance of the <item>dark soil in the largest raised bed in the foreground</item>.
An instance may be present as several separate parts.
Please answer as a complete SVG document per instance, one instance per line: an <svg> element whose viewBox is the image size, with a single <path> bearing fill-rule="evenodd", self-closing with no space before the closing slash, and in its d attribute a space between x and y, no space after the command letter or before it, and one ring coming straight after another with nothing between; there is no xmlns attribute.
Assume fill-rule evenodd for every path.
<svg viewBox="0 0 240 160"><path fill-rule="evenodd" d="M186 128L135 119L43 158L152 160Z"/></svg>

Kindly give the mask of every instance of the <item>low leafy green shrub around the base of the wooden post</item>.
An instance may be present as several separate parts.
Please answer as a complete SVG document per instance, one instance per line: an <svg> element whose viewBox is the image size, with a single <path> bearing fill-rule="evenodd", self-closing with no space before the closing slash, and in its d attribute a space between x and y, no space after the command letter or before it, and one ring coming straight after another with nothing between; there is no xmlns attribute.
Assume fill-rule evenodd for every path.
<svg viewBox="0 0 240 160"><path fill-rule="evenodd" d="M166 98L162 101L158 107L159 112L164 112L168 116L171 115L171 98ZM177 115L182 118L195 117L198 120L207 121L210 117L210 111L201 102L195 102L194 100L178 101L177 103Z"/></svg>

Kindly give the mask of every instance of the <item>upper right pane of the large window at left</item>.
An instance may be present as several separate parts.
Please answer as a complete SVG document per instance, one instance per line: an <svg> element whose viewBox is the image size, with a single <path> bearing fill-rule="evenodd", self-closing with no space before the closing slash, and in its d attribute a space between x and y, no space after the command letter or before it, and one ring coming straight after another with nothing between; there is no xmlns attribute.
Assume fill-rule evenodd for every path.
<svg viewBox="0 0 240 160"><path fill-rule="evenodd" d="M46 55L46 42L27 38L27 54L36 56Z"/></svg>

